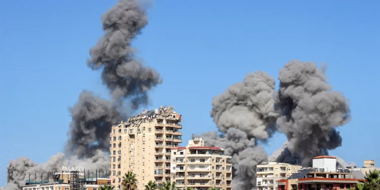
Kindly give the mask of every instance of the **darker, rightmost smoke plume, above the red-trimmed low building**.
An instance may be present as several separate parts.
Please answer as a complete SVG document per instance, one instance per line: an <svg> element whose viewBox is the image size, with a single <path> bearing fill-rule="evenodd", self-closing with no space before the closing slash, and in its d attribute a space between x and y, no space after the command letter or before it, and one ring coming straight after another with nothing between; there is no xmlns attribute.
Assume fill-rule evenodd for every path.
<svg viewBox="0 0 380 190"><path fill-rule="evenodd" d="M324 70L311 62L290 61L280 69L279 81L274 94L277 125L289 142L277 161L300 158L302 166L311 166L313 157L341 145L336 127L351 119L348 100L331 91Z"/></svg>

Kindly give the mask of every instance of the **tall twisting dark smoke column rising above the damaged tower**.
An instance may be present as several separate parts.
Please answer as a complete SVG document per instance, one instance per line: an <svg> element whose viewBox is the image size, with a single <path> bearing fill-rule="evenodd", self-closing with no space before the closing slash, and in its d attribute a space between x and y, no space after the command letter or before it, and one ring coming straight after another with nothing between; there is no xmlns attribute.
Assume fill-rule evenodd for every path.
<svg viewBox="0 0 380 190"><path fill-rule="evenodd" d="M91 48L88 66L103 68L102 81L114 100L128 99L132 108L147 103L147 91L162 83L160 74L135 58L131 41L148 19L134 1L120 1L103 16L104 36Z"/></svg>

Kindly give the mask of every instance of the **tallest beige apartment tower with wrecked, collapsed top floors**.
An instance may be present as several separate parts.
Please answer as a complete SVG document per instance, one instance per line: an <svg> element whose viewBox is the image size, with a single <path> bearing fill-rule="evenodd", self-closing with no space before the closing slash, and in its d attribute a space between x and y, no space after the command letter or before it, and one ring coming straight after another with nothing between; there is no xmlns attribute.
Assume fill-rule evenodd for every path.
<svg viewBox="0 0 380 190"><path fill-rule="evenodd" d="M136 174L138 190L145 189L150 180L159 185L170 181L170 154L182 142L181 121L173 106L160 106L112 126L110 178L115 190L122 189L128 171Z"/></svg>

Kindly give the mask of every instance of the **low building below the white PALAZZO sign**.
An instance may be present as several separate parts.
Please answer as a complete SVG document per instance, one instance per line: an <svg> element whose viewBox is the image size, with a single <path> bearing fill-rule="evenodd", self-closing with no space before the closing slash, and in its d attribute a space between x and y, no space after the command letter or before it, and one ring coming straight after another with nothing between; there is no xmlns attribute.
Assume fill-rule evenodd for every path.
<svg viewBox="0 0 380 190"><path fill-rule="evenodd" d="M77 189L85 190L99 190L99 187L104 184L110 184L111 179L108 178L108 174L103 173L92 175L87 173L77 173L76 179L74 179L72 172L54 172L52 177L48 177L47 180L37 180L39 176L34 179L26 179L25 185L22 186L22 190L71 190L74 187Z"/></svg>

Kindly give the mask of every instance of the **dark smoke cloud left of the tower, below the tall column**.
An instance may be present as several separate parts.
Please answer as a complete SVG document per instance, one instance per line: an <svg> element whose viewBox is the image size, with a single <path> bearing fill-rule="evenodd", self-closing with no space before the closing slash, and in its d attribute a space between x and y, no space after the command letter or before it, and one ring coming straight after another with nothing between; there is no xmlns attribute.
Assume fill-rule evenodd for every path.
<svg viewBox="0 0 380 190"><path fill-rule="evenodd" d="M83 91L79 101L70 107L71 123L66 153L80 158L92 157L96 150L109 148L110 126L122 119L117 108L108 100Z"/></svg>

